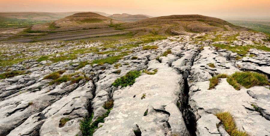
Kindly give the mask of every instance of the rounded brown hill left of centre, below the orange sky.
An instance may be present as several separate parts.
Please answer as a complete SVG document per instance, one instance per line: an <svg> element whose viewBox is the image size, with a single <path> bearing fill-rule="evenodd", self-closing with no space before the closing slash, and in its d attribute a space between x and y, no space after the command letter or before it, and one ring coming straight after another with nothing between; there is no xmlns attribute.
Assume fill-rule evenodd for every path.
<svg viewBox="0 0 270 136"><path fill-rule="evenodd" d="M53 23L32 26L32 31L71 31L79 29L100 29L109 25L124 23L93 12L76 13Z"/></svg>

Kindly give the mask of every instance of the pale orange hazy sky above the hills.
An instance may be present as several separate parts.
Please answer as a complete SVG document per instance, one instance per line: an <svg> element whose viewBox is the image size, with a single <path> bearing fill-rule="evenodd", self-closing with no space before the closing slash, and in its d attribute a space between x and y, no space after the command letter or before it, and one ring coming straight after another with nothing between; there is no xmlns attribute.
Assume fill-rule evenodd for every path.
<svg viewBox="0 0 270 136"><path fill-rule="evenodd" d="M0 0L0 11L101 11L108 14L201 14L270 17L270 0Z"/></svg>

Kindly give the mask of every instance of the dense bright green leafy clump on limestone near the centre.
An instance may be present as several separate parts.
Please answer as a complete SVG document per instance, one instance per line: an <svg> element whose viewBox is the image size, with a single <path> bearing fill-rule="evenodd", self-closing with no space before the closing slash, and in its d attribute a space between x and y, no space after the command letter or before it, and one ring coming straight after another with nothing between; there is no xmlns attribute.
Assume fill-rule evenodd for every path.
<svg viewBox="0 0 270 136"><path fill-rule="evenodd" d="M141 75L140 71L129 71L125 76L117 78L113 82L113 86L118 87L118 86L130 86L135 83L135 79Z"/></svg>

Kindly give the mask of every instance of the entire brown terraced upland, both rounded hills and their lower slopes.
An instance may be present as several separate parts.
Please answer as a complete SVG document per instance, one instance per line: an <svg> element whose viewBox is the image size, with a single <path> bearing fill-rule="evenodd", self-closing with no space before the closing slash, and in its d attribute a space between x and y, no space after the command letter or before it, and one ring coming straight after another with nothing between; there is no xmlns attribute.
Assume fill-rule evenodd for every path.
<svg viewBox="0 0 270 136"><path fill-rule="evenodd" d="M108 29L108 32L104 29ZM127 33L132 33L134 37L137 37L147 34L168 36L198 32L247 30L249 29L202 15L172 15L125 23L87 12L74 14L54 23L34 25L27 29L0 30L0 41L69 41L70 39L87 39ZM78 36L74 35L75 33ZM63 36L59 37L59 35Z"/></svg>

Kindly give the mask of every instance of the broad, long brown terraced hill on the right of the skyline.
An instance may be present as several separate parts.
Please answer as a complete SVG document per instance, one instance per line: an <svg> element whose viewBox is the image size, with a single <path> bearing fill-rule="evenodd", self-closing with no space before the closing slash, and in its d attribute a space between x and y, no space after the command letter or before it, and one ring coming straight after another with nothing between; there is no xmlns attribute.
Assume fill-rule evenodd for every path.
<svg viewBox="0 0 270 136"><path fill-rule="evenodd" d="M246 31L247 28L214 17L202 15L171 15L154 17L118 26L117 29L129 31L146 31L155 34L181 35L208 31Z"/></svg>

